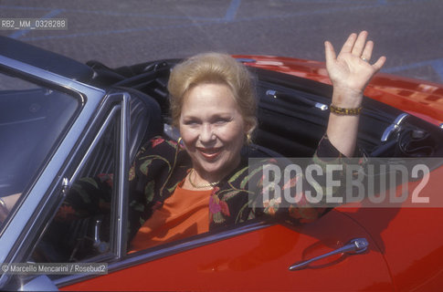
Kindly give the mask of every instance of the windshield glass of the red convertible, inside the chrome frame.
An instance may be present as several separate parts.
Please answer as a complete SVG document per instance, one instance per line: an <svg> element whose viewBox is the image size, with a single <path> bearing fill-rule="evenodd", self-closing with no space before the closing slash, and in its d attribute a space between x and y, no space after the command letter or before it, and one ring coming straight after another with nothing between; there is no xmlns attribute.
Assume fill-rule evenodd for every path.
<svg viewBox="0 0 443 292"><path fill-rule="evenodd" d="M69 94L0 73L0 223L33 183L78 107Z"/></svg>

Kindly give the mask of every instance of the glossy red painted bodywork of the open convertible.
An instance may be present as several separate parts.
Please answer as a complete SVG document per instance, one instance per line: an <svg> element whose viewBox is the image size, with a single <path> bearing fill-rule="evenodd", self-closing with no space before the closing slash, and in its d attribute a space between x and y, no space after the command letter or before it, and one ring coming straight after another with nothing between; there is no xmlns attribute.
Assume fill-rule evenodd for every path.
<svg viewBox="0 0 443 292"><path fill-rule="evenodd" d="M328 84L324 64L286 57L236 56L266 68ZM250 61L248 61L248 59ZM379 73L365 96L435 125L443 122L443 87ZM443 177L443 167L432 172ZM421 195L441 193L430 180ZM414 188L417 183L410 183ZM443 287L441 208L338 207L311 224L267 224L233 236L61 287L63 290L398 290ZM295 262L364 237L363 254L340 254L290 271ZM142 256L142 255L141 255Z"/></svg>

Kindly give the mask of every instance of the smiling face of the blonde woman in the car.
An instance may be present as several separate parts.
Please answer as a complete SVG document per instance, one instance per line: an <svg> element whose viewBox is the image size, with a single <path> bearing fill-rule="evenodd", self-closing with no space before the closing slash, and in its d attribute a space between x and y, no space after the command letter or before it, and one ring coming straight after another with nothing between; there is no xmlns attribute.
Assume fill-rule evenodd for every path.
<svg viewBox="0 0 443 292"><path fill-rule="evenodd" d="M248 127L227 85L204 83L189 89L179 128L200 178L217 182L237 167Z"/></svg>

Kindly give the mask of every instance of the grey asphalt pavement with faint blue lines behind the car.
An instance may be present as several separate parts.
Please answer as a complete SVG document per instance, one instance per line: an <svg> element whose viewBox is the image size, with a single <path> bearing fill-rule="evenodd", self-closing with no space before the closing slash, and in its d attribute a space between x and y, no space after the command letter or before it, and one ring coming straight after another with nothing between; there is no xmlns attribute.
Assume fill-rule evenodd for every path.
<svg viewBox="0 0 443 292"><path fill-rule="evenodd" d="M110 67L204 51L324 60L367 30L384 71L443 83L441 0L3 0L0 18L65 19L65 29L0 35ZM46 22L48 23L48 22Z"/></svg>

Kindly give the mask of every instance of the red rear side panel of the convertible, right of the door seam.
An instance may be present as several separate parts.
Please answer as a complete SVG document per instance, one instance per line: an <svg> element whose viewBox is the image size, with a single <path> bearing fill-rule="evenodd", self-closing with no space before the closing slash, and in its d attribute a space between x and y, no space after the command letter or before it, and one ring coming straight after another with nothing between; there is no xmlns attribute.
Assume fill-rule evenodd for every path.
<svg viewBox="0 0 443 292"><path fill-rule="evenodd" d="M403 203L392 208L340 208L373 236L400 291L438 291L443 287L442 176L443 167L431 172L418 194L428 197L434 207ZM416 185L409 184L409 194Z"/></svg>

